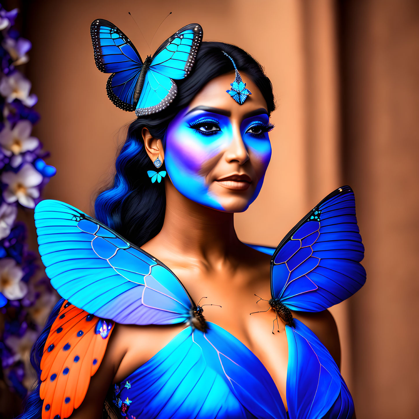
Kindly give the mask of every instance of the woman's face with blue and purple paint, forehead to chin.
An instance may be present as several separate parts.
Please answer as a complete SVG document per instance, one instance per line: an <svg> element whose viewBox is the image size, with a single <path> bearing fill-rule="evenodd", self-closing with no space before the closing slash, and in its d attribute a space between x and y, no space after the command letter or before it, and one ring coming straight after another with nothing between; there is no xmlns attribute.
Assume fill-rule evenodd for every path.
<svg viewBox="0 0 419 419"><path fill-rule="evenodd" d="M206 207L241 212L256 199L271 158L267 106L241 73L251 95L239 105L226 90L234 72L209 81L171 121L164 160L173 186Z"/></svg>

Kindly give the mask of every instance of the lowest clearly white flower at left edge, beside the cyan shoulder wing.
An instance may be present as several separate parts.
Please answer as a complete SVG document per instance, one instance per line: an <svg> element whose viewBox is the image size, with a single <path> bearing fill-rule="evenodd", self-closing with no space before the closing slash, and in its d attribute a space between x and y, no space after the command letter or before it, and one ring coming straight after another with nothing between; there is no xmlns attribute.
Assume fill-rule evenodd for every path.
<svg viewBox="0 0 419 419"><path fill-rule="evenodd" d="M28 290L25 282L22 282L23 271L12 258L0 259L0 292L8 300L23 298Z"/></svg>

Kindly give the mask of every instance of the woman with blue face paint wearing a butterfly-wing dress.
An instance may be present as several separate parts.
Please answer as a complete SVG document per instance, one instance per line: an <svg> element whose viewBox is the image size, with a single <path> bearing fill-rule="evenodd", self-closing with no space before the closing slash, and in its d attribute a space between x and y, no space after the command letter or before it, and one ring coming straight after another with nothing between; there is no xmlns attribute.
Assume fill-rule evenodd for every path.
<svg viewBox="0 0 419 419"><path fill-rule="evenodd" d="M108 40L132 45L95 22L97 33L110 28ZM56 201L36 209L47 274L68 302L34 347L42 384L22 418L99 418L103 406L129 418L354 417L324 310L365 280L352 191L326 197L275 252L239 241L233 215L256 199L271 157L272 85L238 47L198 39L191 48L194 68L173 77L176 98L161 110L145 106L151 58L139 67L136 101L121 103L117 76L109 78L111 100L128 110L137 103L139 116L113 185L96 199L103 224ZM307 250L317 256L301 256Z"/></svg>

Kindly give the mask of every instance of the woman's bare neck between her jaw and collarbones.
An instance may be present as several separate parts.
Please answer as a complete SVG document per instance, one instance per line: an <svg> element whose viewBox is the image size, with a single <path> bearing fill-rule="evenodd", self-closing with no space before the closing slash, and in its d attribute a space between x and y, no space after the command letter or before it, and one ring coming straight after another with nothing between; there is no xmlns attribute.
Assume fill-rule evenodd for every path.
<svg viewBox="0 0 419 419"><path fill-rule="evenodd" d="M169 181L166 183L163 228L143 248L155 254L153 249L163 246L165 253L170 252L173 256L211 263L232 256L231 251L240 245L233 213L197 204L180 194Z"/></svg>

